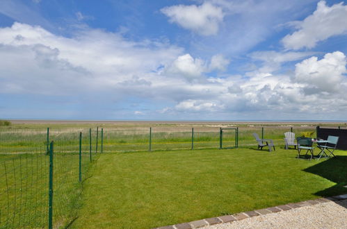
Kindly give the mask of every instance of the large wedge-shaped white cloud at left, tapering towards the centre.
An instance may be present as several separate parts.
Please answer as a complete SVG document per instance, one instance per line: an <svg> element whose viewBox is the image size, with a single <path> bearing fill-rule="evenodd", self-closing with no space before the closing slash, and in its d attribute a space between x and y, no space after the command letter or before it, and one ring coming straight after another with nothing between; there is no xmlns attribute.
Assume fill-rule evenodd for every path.
<svg viewBox="0 0 347 229"><path fill-rule="evenodd" d="M31 94L107 91L134 76L152 74L180 53L176 46L131 42L117 33L85 29L67 38L40 26L15 23L0 28L0 88Z"/></svg>

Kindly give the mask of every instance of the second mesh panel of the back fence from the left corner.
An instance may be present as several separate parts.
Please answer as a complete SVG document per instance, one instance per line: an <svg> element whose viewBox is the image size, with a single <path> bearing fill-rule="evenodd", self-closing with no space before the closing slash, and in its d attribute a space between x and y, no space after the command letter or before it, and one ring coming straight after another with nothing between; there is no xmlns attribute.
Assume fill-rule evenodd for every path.
<svg viewBox="0 0 347 229"><path fill-rule="evenodd" d="M192 129L187 127L152 128L152 150L191 149Z"/></svg>

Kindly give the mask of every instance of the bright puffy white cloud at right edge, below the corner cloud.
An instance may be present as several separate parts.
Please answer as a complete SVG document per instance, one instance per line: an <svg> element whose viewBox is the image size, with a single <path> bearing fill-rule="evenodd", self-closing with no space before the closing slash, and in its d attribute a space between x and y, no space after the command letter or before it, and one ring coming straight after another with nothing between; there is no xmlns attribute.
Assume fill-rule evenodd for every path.
<svg viewBox="0 0 347 229"><path fill-rule="evenodd" d="M340 89L346 70L346 56L340 51L325 54L318 60L315 56L296 64L295 78L298 83L314 86L318 92L334 92Z"/></svg>

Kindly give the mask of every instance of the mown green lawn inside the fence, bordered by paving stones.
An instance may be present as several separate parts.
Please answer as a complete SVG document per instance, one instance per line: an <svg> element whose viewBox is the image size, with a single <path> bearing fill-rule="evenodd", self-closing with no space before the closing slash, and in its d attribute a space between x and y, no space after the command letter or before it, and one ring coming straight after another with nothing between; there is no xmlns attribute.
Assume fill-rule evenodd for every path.
<svg viewBox="0 0 347 229"><path fill-rule="evenodd" d="M284 149L104 153L72 228L154 228L344 194L347 151L335 152L319 161Z"/></svg>

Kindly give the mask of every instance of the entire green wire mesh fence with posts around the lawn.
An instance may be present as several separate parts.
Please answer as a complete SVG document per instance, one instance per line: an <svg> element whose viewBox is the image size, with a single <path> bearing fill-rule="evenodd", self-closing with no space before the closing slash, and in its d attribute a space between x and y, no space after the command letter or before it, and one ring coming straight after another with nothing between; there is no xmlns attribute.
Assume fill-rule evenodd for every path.
<svg viewBox="0 0 347 229"><path fill-rule="evenodd" d="M90 176L91 162L99 153L253 147L257 142L252 133L273 139L278 147L284 146L285 132L300 136L315 127L249 125L225 129L223 135L220 130L220 126L0 128L0 228L68 226L81 205L81 183Z"/></svg>

